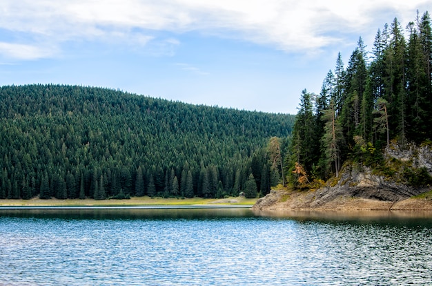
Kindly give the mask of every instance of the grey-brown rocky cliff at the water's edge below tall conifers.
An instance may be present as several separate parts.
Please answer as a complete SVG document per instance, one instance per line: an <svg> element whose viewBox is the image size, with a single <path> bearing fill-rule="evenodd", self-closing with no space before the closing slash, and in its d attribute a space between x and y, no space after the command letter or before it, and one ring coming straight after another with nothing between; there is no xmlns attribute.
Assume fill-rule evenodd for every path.
<svg viewBox="0 0 432 286"><path fill-rule="evenodd" d="M396 202L432 190L426 183L413 186L409 182L415 175L424 176L424 170L432 175L431 146L409 145L402 149L393 144L386 149L384 157L391 176L368 166L346 164L340 177L329 180L325 187L316 191L272 191L259 199L254 209L271 209L276 205L287 209L343 209L344 204L350 204L350 209L355 209L356 204L360 209L365 206L366 209L390 209Z"/></svg>

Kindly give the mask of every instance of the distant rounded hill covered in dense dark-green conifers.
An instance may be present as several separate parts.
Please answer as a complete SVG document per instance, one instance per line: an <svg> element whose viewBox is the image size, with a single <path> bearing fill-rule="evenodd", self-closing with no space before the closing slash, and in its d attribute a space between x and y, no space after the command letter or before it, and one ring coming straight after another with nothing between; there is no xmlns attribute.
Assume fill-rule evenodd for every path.
<svg viewBox="0 0 432 286"><path fill-rule="evenodd" d="M222 197L251 174L264 194L266 146L287 138L294 118L106 88L3 86L0 198Z"/></svg>

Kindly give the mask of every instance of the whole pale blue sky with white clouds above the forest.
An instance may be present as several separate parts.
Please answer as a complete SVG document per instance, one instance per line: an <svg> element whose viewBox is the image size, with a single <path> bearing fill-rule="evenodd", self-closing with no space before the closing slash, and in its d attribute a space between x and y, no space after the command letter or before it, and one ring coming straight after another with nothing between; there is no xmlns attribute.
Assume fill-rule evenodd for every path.
<svg viewBox="0 0 432 286"><path fill-rule="evenodd" d="M72 84L296 114L337 54L432 0L1 0L0 86ZM432 11L429 11L432 12Z"/></svg>

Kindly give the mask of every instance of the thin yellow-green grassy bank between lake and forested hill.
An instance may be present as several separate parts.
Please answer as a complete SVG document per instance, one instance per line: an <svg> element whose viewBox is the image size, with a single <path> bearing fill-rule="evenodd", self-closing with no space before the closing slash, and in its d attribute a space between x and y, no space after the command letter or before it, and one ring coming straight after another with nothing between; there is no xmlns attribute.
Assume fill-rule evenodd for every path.
<svg viewBox="0 0 432 286"><path fill-rule="evenodd" d="M0 200L0 206L146 206L146 205L195 205L195 204L232 204L244 205L255 204L257 198L247 199L244 197L226 199L204 199L204 198L150 198L133 197L130 200L41 200L32 198L31 200Z"/></svg>

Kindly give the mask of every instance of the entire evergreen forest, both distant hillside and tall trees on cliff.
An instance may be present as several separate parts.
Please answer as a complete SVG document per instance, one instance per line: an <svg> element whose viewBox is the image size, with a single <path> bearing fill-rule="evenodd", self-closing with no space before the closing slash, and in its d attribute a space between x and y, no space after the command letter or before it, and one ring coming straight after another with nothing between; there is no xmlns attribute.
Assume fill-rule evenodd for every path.
<svg viewBox="0 0 432 286"><path fill-rule="evenodd" d="M429 12L385 24L366 48L360 37L346 68L339 54L320 93L302 91L296 116L3 86L0 198L254 198L337 177L347 160L385 169L390 142L431 144Z"/></svg>

